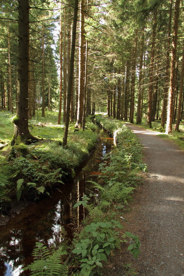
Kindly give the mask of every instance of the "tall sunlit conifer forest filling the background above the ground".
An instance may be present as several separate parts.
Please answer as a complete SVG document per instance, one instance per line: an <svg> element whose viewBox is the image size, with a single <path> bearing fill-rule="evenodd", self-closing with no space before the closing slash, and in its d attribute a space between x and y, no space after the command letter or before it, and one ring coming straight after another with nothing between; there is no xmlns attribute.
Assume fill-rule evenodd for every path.
<svg viewBox="0 0 184 276"><path fill-rule="evenodd" d="M18 6L0 12L0 107L16 112ZM59 110L66 122L74 1L29 1L29 108ZM95 111L179 130L183 112L182 1L79 2L70 121L82 128ZM166 124L167 122L167 124ZM176 123L172 129L172 124Z"/></svg>

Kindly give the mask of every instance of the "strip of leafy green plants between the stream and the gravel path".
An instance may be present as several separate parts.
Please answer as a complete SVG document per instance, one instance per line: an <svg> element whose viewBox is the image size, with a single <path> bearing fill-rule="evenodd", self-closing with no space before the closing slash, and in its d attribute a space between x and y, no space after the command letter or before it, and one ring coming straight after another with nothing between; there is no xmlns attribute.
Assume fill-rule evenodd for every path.
<svg viewBox="0 0 184 276"><path fill-rule="evenodd" d="M72 244L62 243L65 255L57 262L59 270L55 271L56 275L63 275L64 272L64 275L75 276L101 275L103 263L108 261L115 248L120 248L122 242L127 243L127 250L135 258L140 253L139 237L124 232L121 221L133 190L140 182L138 173L146 170L146 165L141 163L142 147L122 122L102 116L96 116L96 121L112 135L116 133L118 143L104 156L96 181L89 181L94 185L95 194L83 195L74 205L74 208L85 208L88 215L75 233ZM90 197L94 197L93 204L90 204ZM44 245L39 243L36 250L42 247ZM41 250L34 254L34 263L29 266L33 275L38 275L43 269L43 274L39 275L47 275L47 271L53 273L50 272L49 260L53 254L57 255L57 250L45 257L42 257Z"/></svg>

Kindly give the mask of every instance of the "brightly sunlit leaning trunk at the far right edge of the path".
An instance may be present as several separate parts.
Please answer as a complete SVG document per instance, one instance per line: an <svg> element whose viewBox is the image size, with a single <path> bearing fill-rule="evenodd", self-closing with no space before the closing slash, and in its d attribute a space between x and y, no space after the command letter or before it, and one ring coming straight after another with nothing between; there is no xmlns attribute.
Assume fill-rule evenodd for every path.
<svg viewBox="0 0 184 276"><path fill-rule="evenodd" d="M167 106L167 123L166 134L172 132L172 115L173 115L173 98L174 98L174 83L175 83L175 63L176 63L176 50L177 50L177 36L178 36L178 18L179 18L180 0L175 2L174 10L174 24L173 24L173 39L172 39L172 52L171 52L171 67L170 67L170 84L169 84L169 97Z"/></svg>

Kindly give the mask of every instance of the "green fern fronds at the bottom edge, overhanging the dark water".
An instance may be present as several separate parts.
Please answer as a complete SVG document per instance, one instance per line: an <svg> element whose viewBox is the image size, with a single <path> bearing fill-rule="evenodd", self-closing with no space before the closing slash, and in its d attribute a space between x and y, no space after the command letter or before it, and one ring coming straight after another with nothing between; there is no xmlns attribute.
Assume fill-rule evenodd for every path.
<svg viewBox="0 0 184 276"><path fill-rule="evenodd" d="M42 243L36 243L33 250L34 262L25 267L24 270L30 270L33 276L46 276L46 275L67 275L68 267L62 264L62 255L67 252L60 247L52 254L46 246Z"/></svg>

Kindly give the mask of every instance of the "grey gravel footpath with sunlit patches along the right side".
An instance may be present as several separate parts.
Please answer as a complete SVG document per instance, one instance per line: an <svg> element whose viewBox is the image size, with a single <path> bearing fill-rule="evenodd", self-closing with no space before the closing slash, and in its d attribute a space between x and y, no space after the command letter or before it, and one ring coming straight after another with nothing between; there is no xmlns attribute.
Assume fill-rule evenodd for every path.
<svg viewBox="0 0 184 276"><path fill-rule="evenodd" d="M131 210L123 214L124 231L139 235L141 253L134 259L122 245L102 275L183 276L184 151L158 132L126 125L144 145L143 160L148 164Z"/></svg>

